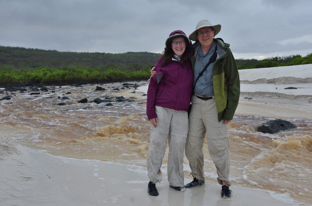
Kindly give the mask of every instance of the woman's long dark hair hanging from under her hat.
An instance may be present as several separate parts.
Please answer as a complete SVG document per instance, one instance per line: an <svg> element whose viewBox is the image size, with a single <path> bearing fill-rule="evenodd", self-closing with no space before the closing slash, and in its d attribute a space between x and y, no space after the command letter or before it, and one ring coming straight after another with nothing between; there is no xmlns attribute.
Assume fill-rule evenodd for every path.
<svg viewBox="0 0 312 206"><path fill-rule="evenodd" d="M188 39L185 39L185 51L184 53L182 54L182 56L180 57L180 64L181 64L181 67L183 68L183 63L185 61L187 62L190 62L191 61L191 56L192 54L194 53L194 50L192 48L192 45L191 43L188 41ZM171 43L170 43L171 45ZM165 48L165 51L163 51L163 54L160 58L163 58L163 62L161 63L161 66L164 67L166 66L170 61L171 61L171 58L173 57L174 55L174 52L172 50L172 48L170 46L166 47Z"/></svg>

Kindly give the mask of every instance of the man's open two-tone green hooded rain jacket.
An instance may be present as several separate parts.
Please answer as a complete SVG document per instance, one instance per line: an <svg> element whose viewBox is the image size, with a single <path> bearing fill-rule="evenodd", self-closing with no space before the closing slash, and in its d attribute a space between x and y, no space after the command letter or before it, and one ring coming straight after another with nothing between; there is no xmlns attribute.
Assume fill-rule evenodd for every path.
<svg viewBox="0 0 312 206"><path fill-rule="evenodd" d="M218 112L218 121L232 120L238 105L240 94L240 81L235 59L230 50L230 44L214 39L217 43L217 59L212 67L213 91ZM199 42L193 46L200 45ZM194 71L195 55L191 57ZM227 78L227 83L224 82Z"/></svg>

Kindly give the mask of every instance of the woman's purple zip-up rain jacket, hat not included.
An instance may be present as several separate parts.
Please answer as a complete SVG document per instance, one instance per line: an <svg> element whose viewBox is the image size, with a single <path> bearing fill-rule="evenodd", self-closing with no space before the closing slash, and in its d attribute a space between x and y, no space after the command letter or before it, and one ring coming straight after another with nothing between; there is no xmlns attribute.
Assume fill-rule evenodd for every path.
<svg viewBox="0 0 312 206"><path fill-rule="evenodd" d="M157 61L156 74L149 81L147 90L146 114L149 119L156 118L155 106L188 111L193 89L193 70L190 62L171 60L161 67L163 58Z"/></svg>

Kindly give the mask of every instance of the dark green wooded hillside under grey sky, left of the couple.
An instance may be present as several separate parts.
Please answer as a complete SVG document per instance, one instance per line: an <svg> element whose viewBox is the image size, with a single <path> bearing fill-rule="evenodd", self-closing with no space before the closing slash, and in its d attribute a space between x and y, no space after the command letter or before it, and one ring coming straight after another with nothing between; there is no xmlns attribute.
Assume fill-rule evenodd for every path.
<svg viewBox="0 0 312 206"><path fill-rule="evenodd" d="M13 68L107 68L140 70L147 65L154 65L160 57L159 53L127 52L122 54L58 52L22 47L0 46L0 67Z"/></svg>

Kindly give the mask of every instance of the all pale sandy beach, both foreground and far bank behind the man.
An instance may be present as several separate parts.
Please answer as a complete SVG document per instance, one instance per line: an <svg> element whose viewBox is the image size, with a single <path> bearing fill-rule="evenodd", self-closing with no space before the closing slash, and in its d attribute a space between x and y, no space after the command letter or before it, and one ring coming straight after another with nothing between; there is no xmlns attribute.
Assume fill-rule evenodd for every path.
<svg viewBox="0 0 312 206"><path fill-rule="evenodd" d="M310 121L311 64L239 72L241 98L237 115L283 119L300 117ZM287 87L297 89L284 89ZM146 91L147 86L142 86L136 89L136 94ZM140 98L146 99L146 96ZM0 205L262 206L311 203L295 200L288 193L235 184L231 186L232 197L221 198L221 186L211 182L182 193L176 192L169 188L165 169L163 181L156 185L159 196L153 197L147 194L149 179L142 165L52 155L43 148L23 146L18 143L18 138L11 137L11 133L10 129L0 129ZM185 170L189 170L187 164ZM192 178L185 175L185 183L190 181ZM312 190L311 183L305 190Z"/></svg>

